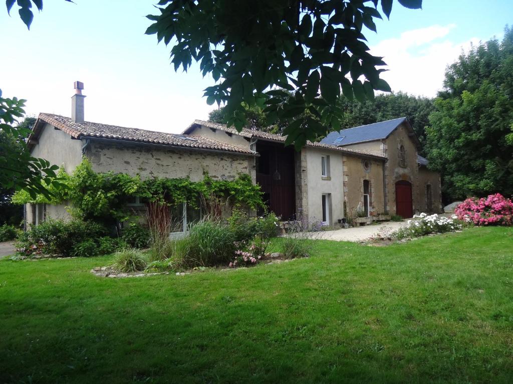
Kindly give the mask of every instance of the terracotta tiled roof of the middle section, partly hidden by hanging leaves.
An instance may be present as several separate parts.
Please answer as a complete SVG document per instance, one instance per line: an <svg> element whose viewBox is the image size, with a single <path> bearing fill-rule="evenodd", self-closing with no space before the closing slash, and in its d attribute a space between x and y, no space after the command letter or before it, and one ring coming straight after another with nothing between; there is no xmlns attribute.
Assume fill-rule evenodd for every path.
<svg viewBox="0 0 513 384"><path fill-rule="evenodd" d="M287 136L282 136L282 135L277 135L277 134L267 133L267 132L262 132L262 131L254 131L254 130L250 130L248 128L243 128L241 132L238 132L235 128L227 127L225 124L218 124L218 123L213 123L210 121L203 121L203 120L194 120L194 122L191 125L189 125L189 127L184 131L184 134L191 132L192 128L195 125L203 125L208 128L229 132L229 133L232 133L235 135L241 135L241 136L247 137L247 138L255 137L255 138L259 138L259 139L263 139L263 140L276 141L276 142L285 142L285 140L287 139ZM323 144L323 143L307 141L306 146L307 147L315 147L315 148L325 148L326 150L342 152L344 154L353 155L353 156L363 156L363 157L373 157L373 158L378 158L378 159L386 159L385 156L380 156L380 155L376 155L376 154L372 154L372 153L368 153L368 152L352 150L351 148L343 148L343 147L339 147L339 146L331 145L331 144Z"/></svg>

